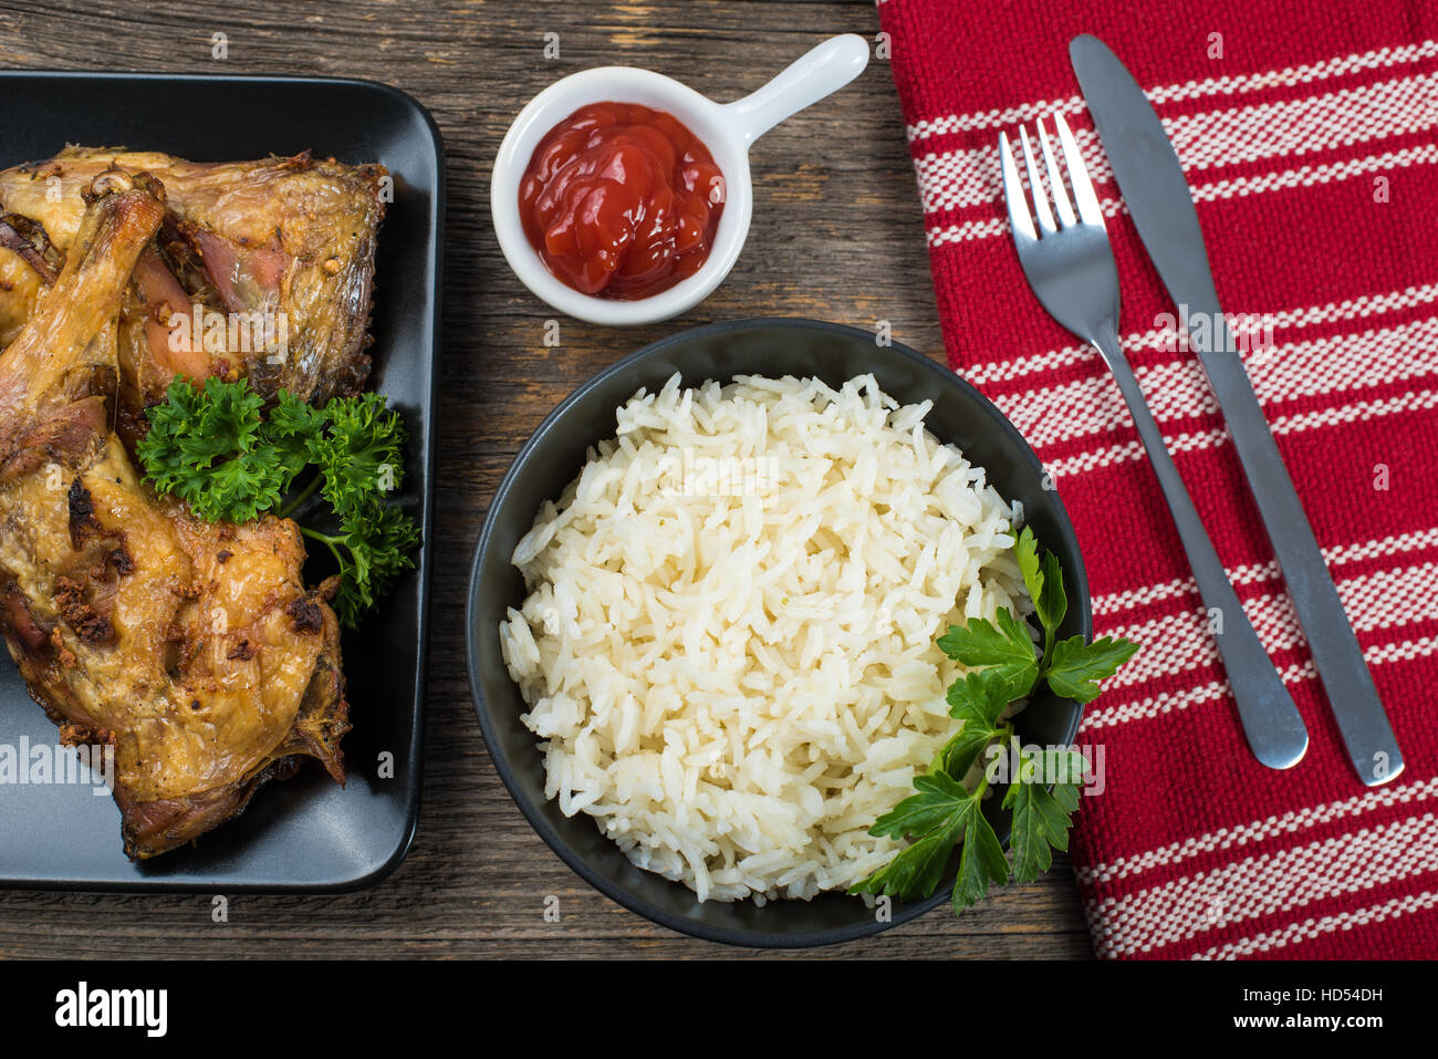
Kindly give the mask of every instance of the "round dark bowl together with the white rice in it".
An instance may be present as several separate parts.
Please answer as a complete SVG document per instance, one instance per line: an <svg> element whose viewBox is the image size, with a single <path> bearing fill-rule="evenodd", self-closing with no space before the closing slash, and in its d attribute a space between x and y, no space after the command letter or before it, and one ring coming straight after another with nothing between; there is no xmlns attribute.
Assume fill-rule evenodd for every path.
<svg viewBox="0 0 1438 1059"><path fill-rule="evenodd" d="M490 757L601 892L729 944L848 941L948 901L846 891L903 843L873 822L953 734L949 624L1028 614L1032 528L1091 636L1073 527L974 387L867 331L748 319L601 371L523 446L469 586ZM1022 742L1073 741L1044 691ZM989 799L999 839L1008 822Z"/></svg>

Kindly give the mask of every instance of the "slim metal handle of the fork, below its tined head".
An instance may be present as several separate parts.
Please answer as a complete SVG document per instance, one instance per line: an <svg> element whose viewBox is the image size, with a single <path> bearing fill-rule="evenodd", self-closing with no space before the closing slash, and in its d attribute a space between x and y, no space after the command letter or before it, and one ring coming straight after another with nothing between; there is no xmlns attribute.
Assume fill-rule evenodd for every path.
<svg viewBox="0 0 1438 1059"><path fill-rule="evenodd" d="M1168 446L1163 445L1163 433L1153 422L1148 403L1143 400L1143 390L1139 380L1129 367L1127 358L1119 348L1119 337L1113 324L1106 324L1089 341L1099 350L1114 380L1119 391L1129 406L1129 414L1139 429L1139 439L1148 452L1149 463L1158 475L1159 486L1163 489L1163 499L1168 501L1173 522L1178 525L1179 540L1188 554L1188 564L1198 583L1198 594L1204 599L1204 606L1209 613L1209 624L1214 627L1214 639L1218 643L1218 655L1228 671L1228 685L1238 704L1238 718L1244 727L1248 745L1263 764L1270 768L1291 768L1299 764L1309 748L1309 731L1299 715L1299 708L1293 705L1293 696L1284 688L1278 671L1258 642L1248 616L1244 613L1238 594L1228 580L1214 542L1198 517L1194 499L1188 495L1188 488L1169 456Z"/></svg>

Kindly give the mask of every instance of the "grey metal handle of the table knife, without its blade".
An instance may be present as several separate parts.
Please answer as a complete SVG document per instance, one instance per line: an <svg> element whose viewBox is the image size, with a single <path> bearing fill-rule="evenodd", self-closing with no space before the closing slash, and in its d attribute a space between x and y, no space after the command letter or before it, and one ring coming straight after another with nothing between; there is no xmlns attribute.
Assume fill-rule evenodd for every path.
<svg viewBox="0 0 1438 1059"><path fill-rule="evenodd" d="M1212 309L1212 350L1201 353L1199 360L1228 422L1238 462L1283 570L1349 760L1366 786L1388 783L1403 770L1398 740L1248 371L1217 304Z"/></svg>

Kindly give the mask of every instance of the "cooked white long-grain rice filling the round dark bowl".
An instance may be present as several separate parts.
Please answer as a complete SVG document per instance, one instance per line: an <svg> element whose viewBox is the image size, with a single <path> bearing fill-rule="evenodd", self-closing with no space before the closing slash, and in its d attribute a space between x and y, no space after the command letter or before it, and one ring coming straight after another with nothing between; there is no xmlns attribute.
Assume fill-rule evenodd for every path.
<svg viewBox="0 0 1438 1059"><path fill-rule="evenodd" d="M1022 512L871 376L640 390L515 548L546 796L700 901L812 898L958 730L951 623L1031 604Z"/></svg>

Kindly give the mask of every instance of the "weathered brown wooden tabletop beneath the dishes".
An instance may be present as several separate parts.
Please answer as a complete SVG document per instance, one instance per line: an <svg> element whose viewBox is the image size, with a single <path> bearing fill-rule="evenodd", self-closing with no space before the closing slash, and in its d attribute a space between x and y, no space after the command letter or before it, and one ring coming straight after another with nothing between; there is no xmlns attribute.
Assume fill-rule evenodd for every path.
<svg viewBox="0 0 1438 1059"><path fill-rule="evenodd" d="M99 13L104 12L104 13ZM569 872L490 767L464 668L464 581L485 508L521 443L575 386L676 328L745 315L874 327L942 357L923 223L887 63L768 134L754 151L749 246L679 321L607 331L561 322L500 258L489 165L551 81L649 66L718 99L758 88L827 35L877 33L871 3L259 3L148 0L0 7L0 66L370 78L414 95L449 155L444 338L429 753L418 836L383 883L341 896L0 892L0 954L105 957L732 957L673 934ZM213 58L224 33L227 56ZM546 58L557 40L558 58ZM552 50L552 49L551 49ZM104 106L104 99L93 101ZM135 144L134 147L142 147ZM378 351L383 355L383 351ZM545 898L559 898L546 922ZM962 919L945 906L825 957L1091 957L1067 859Z"/></svg>

